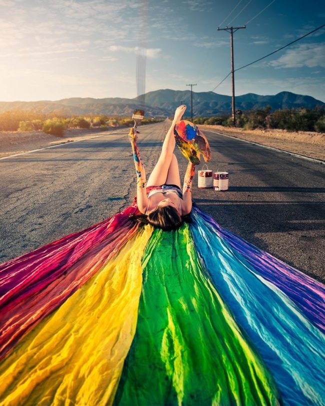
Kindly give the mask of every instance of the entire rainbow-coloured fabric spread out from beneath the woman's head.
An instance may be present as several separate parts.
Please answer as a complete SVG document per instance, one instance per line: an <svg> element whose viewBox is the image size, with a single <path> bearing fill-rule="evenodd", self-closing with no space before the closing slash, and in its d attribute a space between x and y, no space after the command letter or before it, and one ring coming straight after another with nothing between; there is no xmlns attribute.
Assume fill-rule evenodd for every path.
<svg viewBox="0 0 325 406"><path fill-rule="evenodd" d="M135 212L0 265L0 405L324 405L324 286L195 204Z"/></svg>

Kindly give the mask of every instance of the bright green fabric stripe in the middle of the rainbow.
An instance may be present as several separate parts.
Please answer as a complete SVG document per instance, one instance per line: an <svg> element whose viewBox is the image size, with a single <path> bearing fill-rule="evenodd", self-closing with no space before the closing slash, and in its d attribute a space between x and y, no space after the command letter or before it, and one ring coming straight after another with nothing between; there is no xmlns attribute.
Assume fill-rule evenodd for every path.
<svg viewBox="0 0 325 406"><path fill-rule="evenodd" d="M142 256L135 336L114 405L274 405L268 371L243 338L188 225L155 230Z"/></svg>

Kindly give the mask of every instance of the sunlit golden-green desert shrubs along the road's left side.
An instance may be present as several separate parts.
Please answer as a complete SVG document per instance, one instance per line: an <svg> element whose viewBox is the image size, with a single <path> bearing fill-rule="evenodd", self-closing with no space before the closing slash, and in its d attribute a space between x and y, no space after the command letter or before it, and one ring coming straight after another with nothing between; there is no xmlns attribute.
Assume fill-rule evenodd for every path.
<svg viewBox="0 0 325 406"><path fill-rule="evenodd" d="M141 124L153 123L161 119L145 118ZM10 110L0 113L0 131L34 131L42 130L48 134L62 135L66 128L100 128L131 126L130 117L111 117L106 115L63 116L60 114L43 114L40 112Z"/></svg>

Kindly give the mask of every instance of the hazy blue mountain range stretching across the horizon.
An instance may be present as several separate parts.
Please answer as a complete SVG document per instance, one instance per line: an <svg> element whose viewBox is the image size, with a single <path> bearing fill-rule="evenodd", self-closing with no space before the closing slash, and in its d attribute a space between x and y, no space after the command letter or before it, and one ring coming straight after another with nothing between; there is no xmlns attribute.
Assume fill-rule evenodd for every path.
<svg viewBox="0 0 325 406"><path fill-rule="evenodd" d="M130 116L135 108L142 107L145 115L166 117L173 113L181 103L187 105L186 115L190 115L190 91L160 89L145 94L145 104L141 105L142 96L133 99L107 97L95 99L91 97L71 97L56 101L10 101L0 102L0 112L12 109L55 113L62 115L107 114ZM263 108L267 105L272 110L325 106L320 100L311 96L304 96L287 91L275 95L259 95L255 93L242 94L235 98L236 109L251 110ZM210 116L231 113L231 96L214 92L193 92L193 115Z"/></svg>

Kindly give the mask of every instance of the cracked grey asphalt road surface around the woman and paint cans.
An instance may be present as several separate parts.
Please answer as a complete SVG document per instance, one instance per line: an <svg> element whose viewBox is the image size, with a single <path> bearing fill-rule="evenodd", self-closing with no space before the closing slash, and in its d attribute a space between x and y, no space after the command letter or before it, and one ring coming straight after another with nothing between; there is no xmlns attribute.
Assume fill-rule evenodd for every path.
<svg viewBox="0 0 325 406"><path fill-rule="evenodd" d="M168 125L140 128L147 176ZM222 227L324 281L325 166L204 133L212 150L208 167L229 172L229 190L198 189L196 174L198 206ZM176 156L183 177L187 161L178 150ZM0 173L0 263L111 216L136 191L126 129L0 160Z"/></svg>

